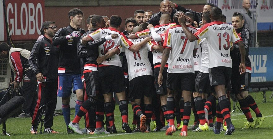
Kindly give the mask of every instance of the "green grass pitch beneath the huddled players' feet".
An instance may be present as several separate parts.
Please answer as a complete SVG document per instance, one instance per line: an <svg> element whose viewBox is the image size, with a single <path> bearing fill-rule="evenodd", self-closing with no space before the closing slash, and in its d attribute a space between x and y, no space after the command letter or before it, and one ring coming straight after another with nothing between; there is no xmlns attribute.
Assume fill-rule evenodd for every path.
<svg viewBox="0 0 273 139"><path fill-rule="evenodd" d="M244 122L246 118L242 112L233 112L231 113L231 120L235 126L235 132L231 136L224 135L224 132L221 132L219 135L215 135L212 130L196 133L188 131L188 137L186 138L273 138L273 99L270 99L271 91L266 92L266 103L262 103L263 96L260 93L250 93L253 98L256 100L256 103L266 119L263 121L262 126L258 129L241 129L244 127ZM239 103L237 104L239 106ZM233 104L231 104L233 106ZM74 110L72 110L74 113ZM255 113L250 111L253 119L256 119ZM30 134L31 127L31 118L10 118L7 120L7 132L14 133L12 137L7 137L0 135L0 138L54 138L54 139L68 139L68 138L111 138L111 139L122 139L122 138L131 138L131 139L146 139L146 138L156 138L156 139L165 139L165 138L182 138L179 136L180 131L173 133L173 136L166 136L165 132L150 132L150 133L131 133L124 134L121 129L121 115L119 112L119 106L116 105L115 109L115 125L118 130L118 134L110 135L79 135L79 134L67 134L66 126L63 116L54 117L53 129L60 132L60 134ZM74 115L71 115L71 120L73 120ZM193 114L191 113L191 119L189 125L193 124ZM129 104L129 124L132 122L132 107ZM176 123L176 122L175 122ZM84 119L80 121L80 128L84 128ZM2 132L1 132L2 133Z"/></svg>

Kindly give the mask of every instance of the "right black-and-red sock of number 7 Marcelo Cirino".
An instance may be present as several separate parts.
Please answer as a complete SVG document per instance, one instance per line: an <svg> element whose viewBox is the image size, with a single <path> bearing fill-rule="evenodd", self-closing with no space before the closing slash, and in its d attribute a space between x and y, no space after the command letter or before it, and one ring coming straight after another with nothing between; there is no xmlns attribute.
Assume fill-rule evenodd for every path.
<svg viewBox="0 0 273 139"><path fill-rule="evenodd" d="M181 131L188 131L190 113L191 113L191 102L190 101L184 102L183 127Z"/></svg>

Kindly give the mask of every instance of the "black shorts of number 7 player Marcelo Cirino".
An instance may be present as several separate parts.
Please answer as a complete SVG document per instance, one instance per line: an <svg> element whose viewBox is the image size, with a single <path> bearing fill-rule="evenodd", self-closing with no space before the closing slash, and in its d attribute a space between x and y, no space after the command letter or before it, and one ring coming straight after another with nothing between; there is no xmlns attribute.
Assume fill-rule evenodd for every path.
<svg viewBox="0 0 273 139"><path fill-rule="evenodd" d="M167 87L170 90L181 89L181 91L194 91L194 73L168 73Z"/></svg>

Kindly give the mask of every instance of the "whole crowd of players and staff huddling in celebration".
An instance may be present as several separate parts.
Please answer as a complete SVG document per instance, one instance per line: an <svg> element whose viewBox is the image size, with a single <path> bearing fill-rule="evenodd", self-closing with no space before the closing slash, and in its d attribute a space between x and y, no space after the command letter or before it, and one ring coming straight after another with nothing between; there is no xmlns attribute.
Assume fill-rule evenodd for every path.
<svg viewBox="0 0 273 139"><path fill-rule="evenodd" d="M89 30L83 31L79 28L83 12L77 8L69 11L68 27L57 31L54 22L44 22L44 37L35 43L29 58L40 82L31 133L37 130L38 108L52 99L54 102L45 113L44 132L58 133L51 128L57 89L68 133L83 134L78 124L83 116L87 134L117 133L113 93L119 100L122 129L126 133L150 132L151 120L162 121L158 112L163 115L163 124L165 119L168 124L158 122L154 131L172 135L181 130L180 135L187 136L193 109L195 124L189 129L213 129L219 134L222 125L225 134L231 135L235 128L230 119L228 91L235 94L247 118L244 128L260 127L265 117L248 95L251 38L243 16L235 12L232 25L227 24L221 9L211 3L205 4L202 13L168 0L163 0L159 9L156 14L135 11L134 18L126 19L124 32L119 31L122 19L118 15L109 20L106 16L89 16ZM71 121L72 85L77 104ZM230 85L232 90L226 91ZM130 126L129 102L134 113ZM256 113L255 121L249 107Z"/></svg>

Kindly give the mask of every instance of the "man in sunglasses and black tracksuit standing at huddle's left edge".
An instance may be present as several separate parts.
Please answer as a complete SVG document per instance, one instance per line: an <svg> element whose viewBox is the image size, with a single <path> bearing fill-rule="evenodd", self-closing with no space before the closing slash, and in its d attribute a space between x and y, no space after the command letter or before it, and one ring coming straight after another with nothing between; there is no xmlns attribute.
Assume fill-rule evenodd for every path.
<svg viewBox="0 0 273 139"><path fill-rule="evenodd" d="M59 133L54 131L53 126L53 113L57 103L57 74L58 74L58 58L59 47L52 44L52 38L57 31L55 23L52 21L45 21L42 24L41 32L44 37L34 44L29 56L29 65L36 73L38 80L38 100L37 105L32 116L32 127L30 133L34 134L38 125L38 117L42 112L39 107L47 104L44 118L44 133ZM37 133L37 132L36 132Z"/></svg>

